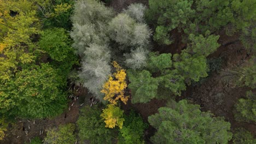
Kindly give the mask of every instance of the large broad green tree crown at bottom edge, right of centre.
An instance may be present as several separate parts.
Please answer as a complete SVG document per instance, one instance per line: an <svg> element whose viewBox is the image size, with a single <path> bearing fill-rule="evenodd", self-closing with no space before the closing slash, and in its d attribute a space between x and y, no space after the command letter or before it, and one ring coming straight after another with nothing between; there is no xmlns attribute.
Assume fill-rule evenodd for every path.
<svg viewBox="0 0 256 144"><path fill-rule="evenodd" d="M228 143L232 138L230 123L201 112L199 105L188 104L187 100L169 105L148 117L157 130L151 137L153 143Z"/></svg>

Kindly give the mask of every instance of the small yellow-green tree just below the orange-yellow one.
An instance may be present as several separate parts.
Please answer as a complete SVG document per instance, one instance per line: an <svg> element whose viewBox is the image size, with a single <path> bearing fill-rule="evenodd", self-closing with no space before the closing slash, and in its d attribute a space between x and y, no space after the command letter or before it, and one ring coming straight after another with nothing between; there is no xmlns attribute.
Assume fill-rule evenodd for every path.
<svg viewBox="0 0 256 144"><path fill-rule="evenodd" d="M120 129L123 128L124 118L123 118L124 111L121 110L119 107L109 104L107 109L103 109L101 117L105 119L105 127L107 128L114 128L118 126Z"/></svg>

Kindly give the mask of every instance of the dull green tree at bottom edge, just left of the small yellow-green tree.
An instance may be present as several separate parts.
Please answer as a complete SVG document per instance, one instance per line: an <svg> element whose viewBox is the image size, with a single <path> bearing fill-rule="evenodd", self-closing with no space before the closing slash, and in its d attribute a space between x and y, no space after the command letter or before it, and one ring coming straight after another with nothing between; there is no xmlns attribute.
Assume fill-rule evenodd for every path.
<svg viewBox="0 0 256 144"><path fill-rule="evenodd" d="M113 131L105 128L100 117L101 110L95 106L85 106L80 112L77 125L78 136L81 140L90 140L90 143L111 143Z"/></svg>

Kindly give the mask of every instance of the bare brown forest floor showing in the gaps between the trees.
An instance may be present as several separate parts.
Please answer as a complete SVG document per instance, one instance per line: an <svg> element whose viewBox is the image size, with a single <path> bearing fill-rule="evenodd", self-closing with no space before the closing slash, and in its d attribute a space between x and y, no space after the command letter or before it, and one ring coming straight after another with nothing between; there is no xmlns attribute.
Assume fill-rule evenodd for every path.
<svg viewBox="0 0 256 144"><path fill-rule="evenodd" d="M121 11L127 7L130 3L141 2L147 5L146 0L113 0L110 6L116 11ZM182 97L178 97L177 100L189 99L195 104L201 106L202 111L211 111L215 116L223 116L226 121L231 123L231 129L234 130L238 127L246 128L254 135L256 134L256 124L236 122L234 118L234 105L237 100L244 97L248 88L234 87L230 77L225 76L225 71L231 70L244 64L249 55L243 48L242 44L238 40L238 36L234 35L230 37L224 34L225 32L219 32L219 44L222 44L216 52L210 55L210 58L221 57L223 59L222 70L219 73L213 73L205 79L202 83L194 86L187 87L187 90L183 92ZM185 44L181 43L181 37L178 35L174 44L165 47L155 47L155 51L161 52L180 52ZM62 115L53 119L43 119L30 121L29 119L19 119L16 124L9 125L7 135L4 140L0 141L0 144L21 144L29 142L32 137L38 136L41 139L45 137L45 130L48 128L57 127L60 124L75 123L79 115L79 109L84 105L90 105L90 95L85 88L78 88L78 92L75 94L79 97L77 100L70 99L67 110ZM74 104L73 104L74 103ZM72 106L73 104L73 106ZM83 104L83 106L81 106ZM153 99L147 104L131 104L131 101L127 105L122 105L123 109L135 109L141 114L144 121L147 122L147 118L150 115L158 112L159 107L165 106L166 100ZM68 110L70 108L70 110ZM28 128L30 127L30 128ZM27 135L25 131L28 131ZM40 135L40 131L43 130L43 134ZM154 134L154 128L149 127L145 132L145 138L148 141L149 137Z"/></svg>

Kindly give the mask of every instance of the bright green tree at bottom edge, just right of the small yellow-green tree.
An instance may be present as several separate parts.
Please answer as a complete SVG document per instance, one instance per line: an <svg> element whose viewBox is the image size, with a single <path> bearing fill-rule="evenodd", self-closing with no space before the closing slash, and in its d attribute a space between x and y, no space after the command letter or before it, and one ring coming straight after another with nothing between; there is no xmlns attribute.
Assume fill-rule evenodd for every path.
<svg viewBox="0 0 256 144"><path fill-rule="evenodd" d="M148 124L143 122L142 117L132 110L129 115L125 115L125 121L123 128L120 129L118 143L144 143L143 134L147 127Z"/></svg>

